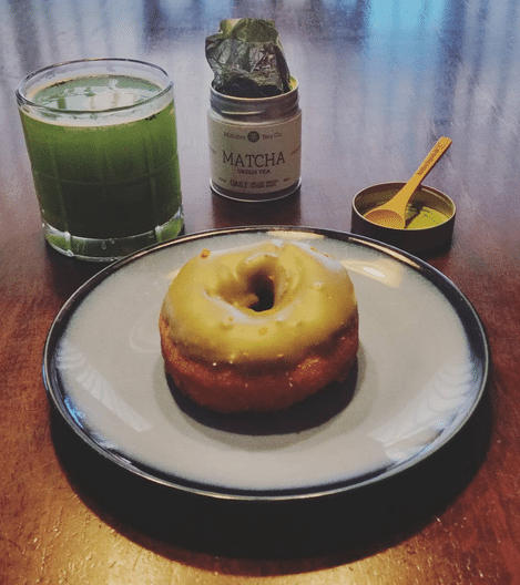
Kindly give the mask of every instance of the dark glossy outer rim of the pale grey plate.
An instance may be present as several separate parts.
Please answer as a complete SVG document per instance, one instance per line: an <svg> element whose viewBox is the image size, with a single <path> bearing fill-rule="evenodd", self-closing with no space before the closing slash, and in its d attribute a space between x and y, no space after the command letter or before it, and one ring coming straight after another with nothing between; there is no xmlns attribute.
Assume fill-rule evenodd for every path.
<svg viewBox="0 0 520 585"><path fill-rule="evenodd" d="M479 388L475 394L471 407L466 412L465 417L458 422L455 429L448 429L447 431L440 433L432 443L430 443L428 449L424 449L406 460L402 463L397 463L394 465L388 465L381 470L373 470L365 474L358 475L354 479L319 483L317 485L310 485L306 488L288 488L281 490L273 489L261 489L261 490L251 490L251 489L233 489L226 486L211 485L202 482L195 482L185 480L183 478L177 478L173 473L162 473L160 470L152 469L145 464L136 464L136 462L130 461L126 458L118 455L113 451L109 451L100 445L90 434L82 428L79 422L74 419L70 410L65 406L65 400L63 393L60 389L60 384L57 380L58 376L55 368L53 368L53 356L57 345L61 338L61 333L65 330L67 324L74 315L77 307L92 292L98 285L104 281L106 278L110 278L112 274L123 269L129 264L132 264L141 258L154 254L159 250L165 248L174 248L176 246L183 245L187 242L194 242L197 239L205 239L212 237L220 237L226 235L237 235L245 233L292 233L292 234L306 234L306 235L319 235L327 237L329 239L344 242L346 244L353 243L368 247L375 250L378 250L387 256L392 257L399 263L406 264L408 267L416 270L421 277L427 278L427 280L435 286L440 294L447 299L449 305L456 311L458 319L461 321L465 336L468 339L468 326L466 320L462 319L472 319L472 326L475 330L472 331L472 338L468 339L469 345L473 348L476 345L479 345L479 350L481 355L478 356L479 362L482 367L482 374L479 379ZM450 295L456 296L456 304L453 304L451 298L447 298L446 291L449 291ZM463 314L463 315L461 315ZM478 337L478 343L476 338ZM453 440L453 438L461 431L466 425L468 420L473 414L477 406L480 403L482 394L488 386L490 377L490 348L489 340L486 332L486 328L475 309L471 301L466 297L466 295L459 289L452 280L450 280L446 275L443 275L439 269L431 266L427 261L414 256L412 254L405 252L402 249L396 248L391 245L378 242L376 239L369 238L367 236L360 236L353 234L350 232L341 232L328 228L316 228L307 226L281 226L281 225L254 225L254 226L242 226L242 227L223 227L215 229L207 229L202 232L196 232L193 234L186 234L176 237L175 239L163 242L143 248L142 250L135 252L120 260L116 260L104 268L99 273L90 277L84 284L82 284L62 305L55 318L53 319L43 348L42 356L42 378L43 384L45 388L45 393L51 406L60 414L61 419L67 423L67 425L74 432L74 434L88 447L93 449L99 455L101 455L105 461L118 465L125 472L131 473L132 475L139 476L147 482L153 484L159 484L167 489L181 492L187 492L194 495L202 495L205 497L212 497L217 500L238 500L238 501L248 501L248 502L264 502L264 501L293 501L302 500L317 496L327 496L338 493L349 492L353 490L358 490L370 484L378 483L386 479L398 475L406 470L419 464L420 462L430 458L434 453L437 453L442 447Z"/></svg>

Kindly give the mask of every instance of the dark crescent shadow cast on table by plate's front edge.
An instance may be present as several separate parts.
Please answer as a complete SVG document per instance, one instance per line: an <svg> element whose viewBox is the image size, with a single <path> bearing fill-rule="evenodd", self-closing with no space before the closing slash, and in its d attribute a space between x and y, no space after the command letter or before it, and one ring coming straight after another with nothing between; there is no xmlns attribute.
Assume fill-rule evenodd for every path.
<svg viewBox="0 0 520 585"><path fill-rule="evenodd" d="M174 492L141 479L52 417L57 452L83 502L128 538L171 558L182 547L264 560L336 555L347 563L391 547L442 514L471 482L490 430L486 392L448 444L396 476L343 494L254 503Z"/></svg>

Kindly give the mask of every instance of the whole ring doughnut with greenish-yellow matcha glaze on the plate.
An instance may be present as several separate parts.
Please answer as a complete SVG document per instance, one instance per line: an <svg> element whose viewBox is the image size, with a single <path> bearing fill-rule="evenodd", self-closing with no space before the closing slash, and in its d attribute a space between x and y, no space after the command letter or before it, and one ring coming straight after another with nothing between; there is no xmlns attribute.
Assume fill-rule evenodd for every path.
<svg viewBox="0 0 520 585"><path fill-rule="evenodd" d="M166 372L197 404L267 412L347 377L357 301L345 267L306 244L203 249L170 285L160 333Z"/></svg>

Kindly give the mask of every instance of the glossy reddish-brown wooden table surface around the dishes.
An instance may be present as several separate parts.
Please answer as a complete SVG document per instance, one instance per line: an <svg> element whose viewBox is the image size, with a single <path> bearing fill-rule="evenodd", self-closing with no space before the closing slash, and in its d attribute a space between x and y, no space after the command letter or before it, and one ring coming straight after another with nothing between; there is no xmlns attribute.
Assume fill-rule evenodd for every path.
<svg viewBox="0 0 520 585"><path fill-rule="evenodd" d="M276 20L300 88L302 189L264 206L208 187L204 39L237 16ZM512 0L0 6L1 583L519 582L519 19ZM41 359L60 307L100 266L42 238L14 89L45 64L104 55L154 62L175 80L186 234L254 224L348 232L359 189L408 178L436 138L452 138L427 183L456 202L455 237L428 261L480 315L492 372L446 449L322 506L174 499L169 534L129 510L142 486L123 482L118 499L112 469L81 473L95 462L53 421Z"/></svg>

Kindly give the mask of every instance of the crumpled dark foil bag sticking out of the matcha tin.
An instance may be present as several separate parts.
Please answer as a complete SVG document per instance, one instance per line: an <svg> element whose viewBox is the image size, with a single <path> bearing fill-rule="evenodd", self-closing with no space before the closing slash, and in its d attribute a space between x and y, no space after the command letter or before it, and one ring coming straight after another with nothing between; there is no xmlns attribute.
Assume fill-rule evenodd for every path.
<svg viewBox="0 0 520 585"><path fill-rule="evenodd" d="M223 20L206 38L213 88L237 98L268 98L290 90L290 74L272 20Z"/></svg>

